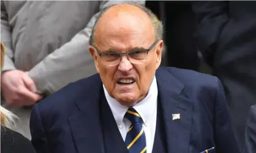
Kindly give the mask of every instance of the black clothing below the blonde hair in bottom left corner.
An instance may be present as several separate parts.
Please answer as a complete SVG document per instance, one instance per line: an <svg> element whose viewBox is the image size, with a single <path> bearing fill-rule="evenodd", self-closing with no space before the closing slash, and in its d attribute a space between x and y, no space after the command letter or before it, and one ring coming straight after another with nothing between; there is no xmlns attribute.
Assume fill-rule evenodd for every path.
<svg viewBox="0 0 256 153"><path fill-rule="evenodd" d="M36 153L28 138L1 125L1 153Z"/></svg>

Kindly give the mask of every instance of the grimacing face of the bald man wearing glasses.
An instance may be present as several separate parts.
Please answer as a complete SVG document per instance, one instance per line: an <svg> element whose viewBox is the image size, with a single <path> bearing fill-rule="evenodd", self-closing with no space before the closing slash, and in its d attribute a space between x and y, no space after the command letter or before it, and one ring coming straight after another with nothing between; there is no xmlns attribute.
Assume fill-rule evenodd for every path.
<svg viewBox="0 0 256 153"><path fill-rule="evenodd" d="M144 99L160 65L163 46L146 13L133 5L112 7L100 19L94 38L89 51L108 94L127 106ZM148 52L141 50L150 47ZM129 59L106 54L130 51L135 52L129 53Z"/></svg>

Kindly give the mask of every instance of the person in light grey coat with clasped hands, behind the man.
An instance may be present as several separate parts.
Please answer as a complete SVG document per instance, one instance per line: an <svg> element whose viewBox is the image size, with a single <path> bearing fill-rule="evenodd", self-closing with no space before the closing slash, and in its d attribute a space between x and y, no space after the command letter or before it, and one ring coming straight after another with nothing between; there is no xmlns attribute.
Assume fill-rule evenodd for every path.
<svg viewBox="0 0 256 153"><path fill-rule="evenodd" d="M1 1L2 103L21 118L18 131L31 138L31 109L21 106L97 72L88 52L94 21L105 7L126 2Z"/></svg>

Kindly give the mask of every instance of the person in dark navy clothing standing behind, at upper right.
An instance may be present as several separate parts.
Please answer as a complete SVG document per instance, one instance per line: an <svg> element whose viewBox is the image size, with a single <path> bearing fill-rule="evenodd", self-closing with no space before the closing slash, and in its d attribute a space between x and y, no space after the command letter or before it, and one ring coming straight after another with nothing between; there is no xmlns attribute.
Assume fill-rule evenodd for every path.
<svg viewBox="0 0 256 153"><path fill-rule="evenodd" d="M241 148L256 104L256 1L195 1L197 46L225 88Z"/></svg>

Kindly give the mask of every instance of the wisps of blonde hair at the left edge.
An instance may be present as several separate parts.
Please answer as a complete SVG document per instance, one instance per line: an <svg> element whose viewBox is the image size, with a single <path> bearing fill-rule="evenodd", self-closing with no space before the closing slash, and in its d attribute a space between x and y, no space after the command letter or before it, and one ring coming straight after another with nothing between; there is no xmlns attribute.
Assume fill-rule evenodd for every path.
<svg viewBox="0 0 256 153"><path fill-rule="evenodd" d="M2 73L2 66L4 66L4 44L1 43L1 73ZM18 118L15 114L10 112L7 109L4 109L4 107L0 106L0 112L1 112L1 125L2 126L10 126L11 123L15 123L14 119Z"/></svg>

